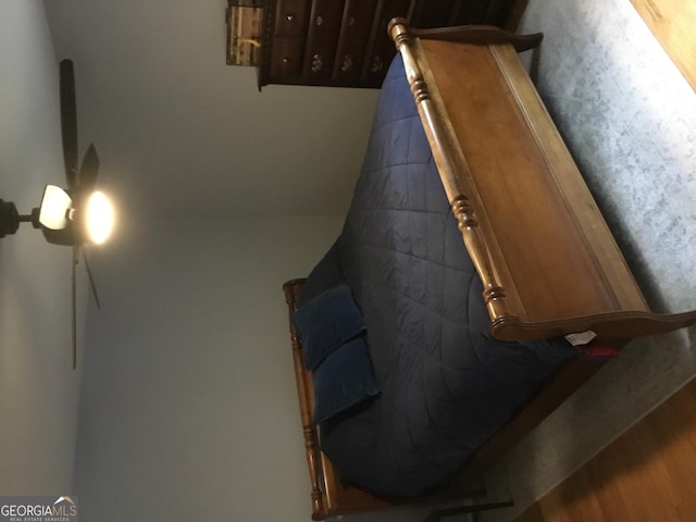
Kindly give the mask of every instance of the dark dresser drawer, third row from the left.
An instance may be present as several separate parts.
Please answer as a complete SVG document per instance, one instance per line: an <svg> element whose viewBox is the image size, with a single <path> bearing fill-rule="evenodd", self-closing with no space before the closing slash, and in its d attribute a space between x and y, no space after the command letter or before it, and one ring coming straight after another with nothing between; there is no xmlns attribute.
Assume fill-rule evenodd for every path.
<svg viewBox="0 0 696 522"><path fill-rule="evenodd" d="M334 79L352 83L360 78L376 7L374 0L346 0L334 61Z"/></svg>

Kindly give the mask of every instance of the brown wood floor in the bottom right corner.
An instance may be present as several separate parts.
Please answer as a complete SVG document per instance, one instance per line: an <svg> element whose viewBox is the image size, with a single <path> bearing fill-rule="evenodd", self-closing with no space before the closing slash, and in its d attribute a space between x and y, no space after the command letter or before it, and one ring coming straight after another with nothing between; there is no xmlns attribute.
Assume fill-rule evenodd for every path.
<svg viewBox="0 0 696 522"><path fill-rule="evenodd" d="M515 522L695 520L696 380Z"/></svg>

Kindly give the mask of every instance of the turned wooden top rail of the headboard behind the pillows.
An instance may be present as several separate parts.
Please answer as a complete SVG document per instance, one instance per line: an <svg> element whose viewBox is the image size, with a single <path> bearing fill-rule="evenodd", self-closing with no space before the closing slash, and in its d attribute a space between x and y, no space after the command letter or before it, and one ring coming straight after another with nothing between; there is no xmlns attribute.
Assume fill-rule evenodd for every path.
<svg viewBox="0 0 696 522"><path fill-rule="evenodd" d="M283 285L285 293L285 302L287 302L288 313L291 316L297 310L297 296L304 283L303 278L291 279ZM319 450L319 440L316 439L316 431L312 423L313 402L311 375L304 368L304 355L300 344L299 335L295 330L293 321L289 321L290 340L293 344L293 362L295 364L295 378L297 382L297 395L300 406L300 419L302 423L302 434L304 436L304 453L307 457L307 465L309 468L309 476L311 481L311 498L312 498L312 519L322 520L325 518L326 506L324 506L324 497L321 488L321 457Z"/></svg>

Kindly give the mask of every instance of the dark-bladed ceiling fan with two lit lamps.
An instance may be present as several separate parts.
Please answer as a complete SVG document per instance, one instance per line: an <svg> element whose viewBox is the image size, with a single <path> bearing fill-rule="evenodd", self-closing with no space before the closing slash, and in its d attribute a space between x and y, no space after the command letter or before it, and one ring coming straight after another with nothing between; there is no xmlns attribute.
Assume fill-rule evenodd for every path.
<svg viewBox="0 0 696 522"><path fill-rule="evenodd" d="M89 278L89 286L100 307L97 286L85 254L86 244L104 243L111 235L114 222L113 207L109 199L95 190L99 157L89 145L82 164L77 164L77 108L75 101L75 73L73 62L60 62L60 107L63 160L66 188L47 185L38 208L30 214L20 214L14 203L0 199L0 238L16 233L23 222L40 228L46 240L53 245L72 247L72 347L73 369L77 366L77 309L76 266L82 258Z"/></svg>

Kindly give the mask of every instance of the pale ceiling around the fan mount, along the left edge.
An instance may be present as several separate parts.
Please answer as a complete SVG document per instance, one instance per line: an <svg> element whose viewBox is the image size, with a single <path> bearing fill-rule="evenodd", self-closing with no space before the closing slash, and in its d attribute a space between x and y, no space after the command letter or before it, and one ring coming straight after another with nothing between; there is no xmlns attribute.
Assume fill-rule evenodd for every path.
<svg viewBox="0 0 696 522"><path fill-rule="evenodd" d="M0 198L28 212L45 184L63 179L58 63L44 4L3 0ZM30 225L0 239L0 496L72 487L80 372L72 370L70 282L70 250Z"/></svg>

